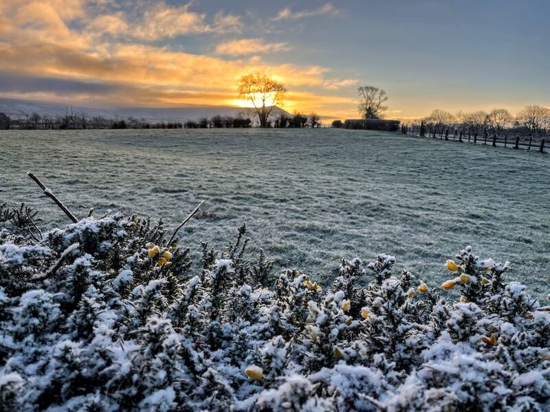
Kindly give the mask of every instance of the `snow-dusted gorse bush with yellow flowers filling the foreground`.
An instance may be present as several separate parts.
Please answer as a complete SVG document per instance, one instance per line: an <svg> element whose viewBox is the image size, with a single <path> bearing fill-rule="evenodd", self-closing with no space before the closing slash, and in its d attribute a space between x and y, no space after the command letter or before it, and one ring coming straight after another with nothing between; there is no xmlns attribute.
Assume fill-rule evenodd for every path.
<svg viewBox="0 0 550 412"><path fill-rule="evenodd" d="M442 288L389 255L342 260L322 288L270 282L244 226L198 268L162 222L40 240L32 217L0 207L3 411L550 410L549 308L470 247Z"/></svg>

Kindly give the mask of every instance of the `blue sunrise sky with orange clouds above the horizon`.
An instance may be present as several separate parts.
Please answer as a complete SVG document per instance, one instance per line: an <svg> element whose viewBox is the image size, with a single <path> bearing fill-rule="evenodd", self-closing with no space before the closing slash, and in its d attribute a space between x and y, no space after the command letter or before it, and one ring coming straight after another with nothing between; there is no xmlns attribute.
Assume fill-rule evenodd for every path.
<svg viewBox="0 0 550 412"><path fill-rule="evenodd" d="M239 106L265 71L283 108L387 117L550 106L550 1L0 0L0 97L80 106Z"/></svg>

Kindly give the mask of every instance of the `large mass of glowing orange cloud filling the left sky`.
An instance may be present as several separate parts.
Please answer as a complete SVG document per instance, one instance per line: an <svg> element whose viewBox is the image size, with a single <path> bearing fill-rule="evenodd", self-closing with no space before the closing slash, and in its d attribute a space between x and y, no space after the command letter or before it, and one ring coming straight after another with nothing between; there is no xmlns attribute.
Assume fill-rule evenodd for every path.
<svg viewBox="0 0 550 412"><path fill-rule="evenodd" d="M274 65L259 56L242 57L248 52L267 54L288 49L287 43L243 38L217 45L217 56L150 43L181 34L239 31L242 27L239 16L219 13L209 18L190 10L190 3L178 7L137 3L144 11L140 9L143 13L135 20L113 8L106 12L109 4L87 0L1 1L0 73L102 85L95 94L94 87L85 87L71 93L65 89L57 95L52 88L10 89L3 91L3 95L67 104L230 104L236 99L239 78L259 70L270 73L289 88L289 110L316 111L322 115L327 111L343 111L345 105L350 105L349 99L331 96L330 91L354 84L355 80L327 77L329 69L316 65L289 62ZM332 7L311 12L326 14ZM307 91L308 88L316 93ZM355 107L355 102L351 102L351 107Z"/></svg>

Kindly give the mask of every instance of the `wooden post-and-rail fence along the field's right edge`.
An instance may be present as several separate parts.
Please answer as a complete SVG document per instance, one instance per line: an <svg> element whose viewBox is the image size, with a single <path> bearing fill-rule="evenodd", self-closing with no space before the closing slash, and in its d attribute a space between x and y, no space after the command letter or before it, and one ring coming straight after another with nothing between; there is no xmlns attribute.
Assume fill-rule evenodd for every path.
<svg viewBox="0 0 550 412"><path fill-rule="evenodd" d="M406 125L401 126L401 133L415 137L430 137L432 139L441 139L446 141L458 141L460 143L485 144L493 147L500 146L505 148L538 150L544 153L545 137L533 137L532 135L516 135L507 133L494 133L487 129L466 130L464 128L454 128L450 126L438 125Z"/></svg>

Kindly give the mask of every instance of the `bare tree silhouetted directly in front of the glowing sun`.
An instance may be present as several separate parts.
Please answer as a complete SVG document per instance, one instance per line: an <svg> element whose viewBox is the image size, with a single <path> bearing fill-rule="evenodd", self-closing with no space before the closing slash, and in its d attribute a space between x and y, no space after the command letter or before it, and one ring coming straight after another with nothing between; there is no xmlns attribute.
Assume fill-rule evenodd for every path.
<svg viewBox="0 0 550 412"><path fill-rule="evenodd" d="M252 102L260 127L267 127L273 109L282 104L287 89L266 73L255 71L241 77L239 98Z"/></svg>

